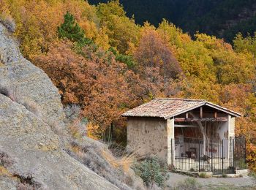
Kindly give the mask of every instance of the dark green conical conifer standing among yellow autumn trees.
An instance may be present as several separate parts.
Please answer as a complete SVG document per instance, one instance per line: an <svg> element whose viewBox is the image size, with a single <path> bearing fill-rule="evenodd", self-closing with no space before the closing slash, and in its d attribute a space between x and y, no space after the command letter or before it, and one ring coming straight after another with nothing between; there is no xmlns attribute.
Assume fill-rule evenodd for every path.
<svg viewBox="0 0 256 190"><path fill-rule="evenodd" d="M74 16L69 12L64 15L64 23L58 27L58 34L59 38L66 38L72 42L83 42L85 40L83 29L75 22Z"/></svg>

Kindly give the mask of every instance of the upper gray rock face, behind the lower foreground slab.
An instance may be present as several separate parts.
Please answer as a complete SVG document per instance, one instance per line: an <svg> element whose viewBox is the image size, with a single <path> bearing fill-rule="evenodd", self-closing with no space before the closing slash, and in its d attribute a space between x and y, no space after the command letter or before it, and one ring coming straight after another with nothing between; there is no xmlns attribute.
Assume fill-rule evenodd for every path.
<svg viewBox="0 0 256 190"><path fill-rule="evenodd" d="M17 42L0 23L0 83L17 89L20 99L37 103L45 119L61 121L64 118L58 88L41 69L20 54Z"/></svg>

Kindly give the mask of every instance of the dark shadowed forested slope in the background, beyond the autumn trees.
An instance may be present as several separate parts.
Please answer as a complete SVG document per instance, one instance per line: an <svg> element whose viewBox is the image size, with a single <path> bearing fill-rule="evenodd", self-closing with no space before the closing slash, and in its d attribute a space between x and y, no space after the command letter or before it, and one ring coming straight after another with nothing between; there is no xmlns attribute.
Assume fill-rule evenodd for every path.
<svg viewBox="0 0 256 190"><path fill-rule="evenodd" d="M89 0L93 4L108 0ZM190 34L196 31L215 35L232 42L238 32L253 35L256 29L253 0L120 0L127 15L136 21L146 20L158 26L162 18L183 28Z"/></svg>

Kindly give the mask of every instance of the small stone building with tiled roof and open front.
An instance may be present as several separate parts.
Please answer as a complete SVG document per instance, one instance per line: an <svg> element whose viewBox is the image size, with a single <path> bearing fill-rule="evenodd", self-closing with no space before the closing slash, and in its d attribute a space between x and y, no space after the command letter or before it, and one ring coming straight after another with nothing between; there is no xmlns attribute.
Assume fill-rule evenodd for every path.
<svg viewBox="0 0 256 190"><path fill-rule="evenodd" d="M223 160L230 167L235 118L241 116L233 110L203 99L158 98L122 116L127 117L129 149L158 156L176 168L185 160L190 166L184 164L186 170L200 170L200 164L209 164L207 158L211 158L211 167L214 161Z"/></svg>

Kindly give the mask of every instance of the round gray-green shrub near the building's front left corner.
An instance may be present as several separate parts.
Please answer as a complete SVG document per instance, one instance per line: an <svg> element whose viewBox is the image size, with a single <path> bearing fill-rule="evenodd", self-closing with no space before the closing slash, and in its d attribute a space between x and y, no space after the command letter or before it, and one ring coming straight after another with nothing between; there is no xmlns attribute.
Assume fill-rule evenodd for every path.
<svg viewBox="0 0 256 190"><path fill-rule="evenodd" d="M143 179L146 186L164 186L168 178L167 166L157 157L148 157L133 167L135 173Z"/></svg>

